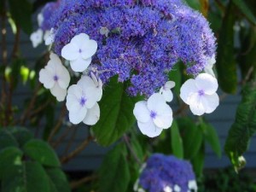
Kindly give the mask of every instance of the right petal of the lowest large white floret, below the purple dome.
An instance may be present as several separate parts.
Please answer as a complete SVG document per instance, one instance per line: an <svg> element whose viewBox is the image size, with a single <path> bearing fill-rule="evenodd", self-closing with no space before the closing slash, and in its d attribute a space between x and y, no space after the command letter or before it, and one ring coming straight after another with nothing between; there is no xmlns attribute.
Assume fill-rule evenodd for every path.
<svg viewBox="0 0 256 192"><path fill-rule="evenodd" d="M172 125L172 108L166 104L153 119L154 124L161 129L168 129Z"/></svg>

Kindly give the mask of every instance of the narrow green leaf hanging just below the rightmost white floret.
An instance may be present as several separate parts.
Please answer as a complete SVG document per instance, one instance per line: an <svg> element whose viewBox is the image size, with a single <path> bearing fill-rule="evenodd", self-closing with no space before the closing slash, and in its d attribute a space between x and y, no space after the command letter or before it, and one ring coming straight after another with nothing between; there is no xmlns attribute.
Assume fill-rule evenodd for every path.
<svg viewBox="0 0 256 192"><path fill-rule="evenodd" d="M200 124L200 126L201 126L201 129L203 130L205 140L207 141L207 143L210 144L212 150L220 158L221 157L221 146L220 146L220 143L219 143L217 132L212 127L212 125L207 124L205 122L202 122Z"/></svg>

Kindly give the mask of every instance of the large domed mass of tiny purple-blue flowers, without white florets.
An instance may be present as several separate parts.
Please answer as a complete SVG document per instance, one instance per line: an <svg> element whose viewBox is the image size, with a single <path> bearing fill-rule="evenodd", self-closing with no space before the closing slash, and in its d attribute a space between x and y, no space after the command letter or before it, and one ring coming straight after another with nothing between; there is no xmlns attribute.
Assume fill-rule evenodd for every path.
<svg viewBox="0 0 256 192"><path fill-rule="evenodd" d="M64 0L50 20L57 55L75 35L88 34L98 43L90 66L103 82L130 79L131 96L159 90L177 61L197 75L216 50L207 20L181 0Z"/></svg>

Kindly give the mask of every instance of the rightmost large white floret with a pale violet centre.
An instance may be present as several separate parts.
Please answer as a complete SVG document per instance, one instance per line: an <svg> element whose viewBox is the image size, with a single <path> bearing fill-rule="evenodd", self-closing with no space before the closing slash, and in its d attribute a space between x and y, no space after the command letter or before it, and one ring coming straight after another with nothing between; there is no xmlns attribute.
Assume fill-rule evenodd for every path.
<svg viewBox="0 0 256 192"><path fill-rule="evenodd" d="M212 113L219 104L217 89L217 79L210 74L201 73L195 79L189 79L182 85L180 97L195 115Z"/></svg>

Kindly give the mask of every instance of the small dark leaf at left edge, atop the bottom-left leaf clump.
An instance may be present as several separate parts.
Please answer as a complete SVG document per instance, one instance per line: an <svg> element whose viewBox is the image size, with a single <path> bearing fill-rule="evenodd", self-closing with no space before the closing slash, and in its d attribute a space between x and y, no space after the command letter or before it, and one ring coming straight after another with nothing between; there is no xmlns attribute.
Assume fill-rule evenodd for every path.
<svg viewBox="0 0 256 192"><path fill-rule="evenodd" d="M5 131L5 129L7 128L0 130L0 151L7 147L19 147L15 137L9 131Z"/></svg>

